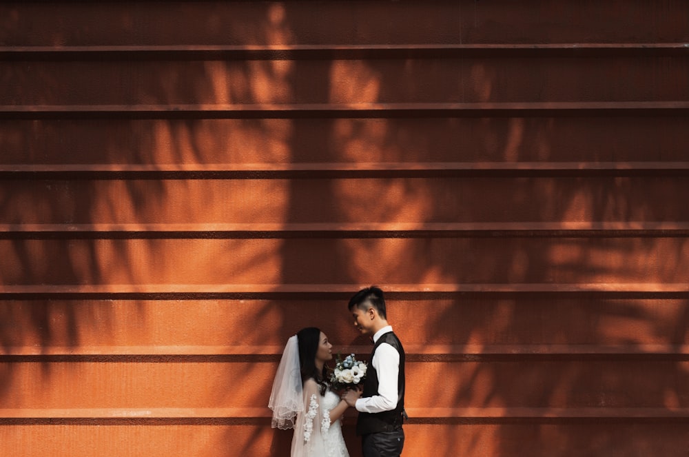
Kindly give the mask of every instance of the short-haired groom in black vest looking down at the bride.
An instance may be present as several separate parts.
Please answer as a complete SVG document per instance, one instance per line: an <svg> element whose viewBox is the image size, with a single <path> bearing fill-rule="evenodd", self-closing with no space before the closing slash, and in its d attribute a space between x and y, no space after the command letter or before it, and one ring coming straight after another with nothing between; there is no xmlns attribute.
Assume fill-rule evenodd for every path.
<svg viewBox="0 0 689 457"><path fill-rule="evenodd" d="M354 325L373 337L364 392L347 392L347 405L359 412L356 434L364 457L398 457L404 447L404 348L387 323L383 291L362 289L349 300ZM359 398L361 396L361 398Z"/></svg>

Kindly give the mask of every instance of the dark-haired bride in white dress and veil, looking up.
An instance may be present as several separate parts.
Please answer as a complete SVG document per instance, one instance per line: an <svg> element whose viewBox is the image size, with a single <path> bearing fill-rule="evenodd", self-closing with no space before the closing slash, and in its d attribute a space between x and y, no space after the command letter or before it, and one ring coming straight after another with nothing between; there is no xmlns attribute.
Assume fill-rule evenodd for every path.
<svg viewBox="0 0 689 457"><path fill-rule="evenodd" d="M268 407L272 427L294 428L291 457L349 457L340 423L348 406L327 383L332 347L320 329L307 327L282 352Z"/></svg>

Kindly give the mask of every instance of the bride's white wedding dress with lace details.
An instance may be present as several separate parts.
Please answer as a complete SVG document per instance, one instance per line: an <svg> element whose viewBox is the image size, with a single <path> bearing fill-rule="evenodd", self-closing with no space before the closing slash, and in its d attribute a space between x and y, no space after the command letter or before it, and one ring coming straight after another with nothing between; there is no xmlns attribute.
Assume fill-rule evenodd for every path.
<svg viewBox="0 0 689 457"><path fill-rule="evenodd" d="M349 457L342 420L330 423L330 411L340 397L328 390L320 395L315 380L304 383L304 409L298 412L292 437L291 457Z"/></svg>

